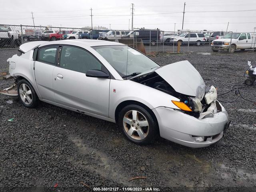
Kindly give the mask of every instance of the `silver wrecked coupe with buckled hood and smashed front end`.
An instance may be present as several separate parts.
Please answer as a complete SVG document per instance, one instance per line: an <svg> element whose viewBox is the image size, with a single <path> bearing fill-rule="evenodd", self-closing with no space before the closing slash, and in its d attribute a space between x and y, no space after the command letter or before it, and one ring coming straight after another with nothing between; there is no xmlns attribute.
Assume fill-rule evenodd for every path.
<svg viewBox="0 0 256 192"><path fill-rule="evenodd" d="M116 122L136 144L161 137L205 147L230 121L214 86L188 61L160 66L128 45L101 40L40 41L8 59L22 105L38 100ZM182 73L180 70L182 69Z"/></svg>

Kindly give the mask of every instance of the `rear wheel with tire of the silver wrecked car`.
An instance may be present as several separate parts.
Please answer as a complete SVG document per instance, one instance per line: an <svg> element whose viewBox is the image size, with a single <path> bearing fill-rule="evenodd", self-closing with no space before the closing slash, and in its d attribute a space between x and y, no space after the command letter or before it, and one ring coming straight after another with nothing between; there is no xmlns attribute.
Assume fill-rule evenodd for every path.
<svg viewBox="0 0 256 192"><path fill-rule="evenodd" d="M22 105L27 108L34 108L38 104L38 97L32 85L27 80L18 82L18 97Z"/></svg>

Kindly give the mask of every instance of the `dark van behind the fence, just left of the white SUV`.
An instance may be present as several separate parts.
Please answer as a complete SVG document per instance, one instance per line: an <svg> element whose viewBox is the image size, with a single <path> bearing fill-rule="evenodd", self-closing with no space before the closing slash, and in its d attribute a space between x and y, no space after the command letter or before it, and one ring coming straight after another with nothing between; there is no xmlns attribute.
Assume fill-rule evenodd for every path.
<svg viewBox="0 0 256 192"><path fill-rule="evenodd" d="M124 36L123 38L137 38L142 39L144 44L151 44L152 46L156 46L158 42L160 42L160 30L149 30L149 29L140 29L131 31L129 34Z"/></svg>

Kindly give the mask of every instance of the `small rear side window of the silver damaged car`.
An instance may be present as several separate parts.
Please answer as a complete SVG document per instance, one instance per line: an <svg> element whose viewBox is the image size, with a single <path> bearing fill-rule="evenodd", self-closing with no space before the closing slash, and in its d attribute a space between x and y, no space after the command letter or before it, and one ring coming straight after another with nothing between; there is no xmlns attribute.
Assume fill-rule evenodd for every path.
<svg viewBox="0 0 256 192"><path fill-rule="evenodd" d="M56 64L58 46L47 46L38 50L38 61L47 64Z"/></svg>

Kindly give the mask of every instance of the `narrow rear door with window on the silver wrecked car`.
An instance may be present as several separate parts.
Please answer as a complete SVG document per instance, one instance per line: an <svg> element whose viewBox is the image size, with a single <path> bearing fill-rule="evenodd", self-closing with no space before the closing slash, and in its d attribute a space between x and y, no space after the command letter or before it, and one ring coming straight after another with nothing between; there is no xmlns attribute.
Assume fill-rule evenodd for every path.
<svg viewBox="0 0 256 192"><path fill-rule="evenodd" d="M38 48L35 61L36 86L42 98L49 101L54 101L52 72L56 66L57 52L57 45Z"/></svg>

